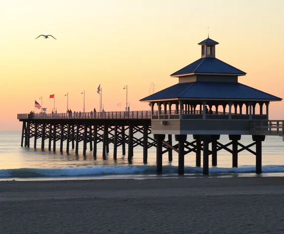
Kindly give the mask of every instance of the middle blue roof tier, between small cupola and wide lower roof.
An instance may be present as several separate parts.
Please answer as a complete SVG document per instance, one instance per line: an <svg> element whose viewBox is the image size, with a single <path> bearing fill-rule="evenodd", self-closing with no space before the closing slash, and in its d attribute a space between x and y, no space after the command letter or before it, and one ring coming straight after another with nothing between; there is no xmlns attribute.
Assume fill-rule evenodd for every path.
<svg viewBox="0 0 284 234"><path fill-rule="evenodd" d="M236 75L246 74L244 71L241 71L227 64L226 62L221 61L218 58L199 58L198 60L190 63L180 70L172 73L171 76L178 76L189 73L224 73Z"/></svg>

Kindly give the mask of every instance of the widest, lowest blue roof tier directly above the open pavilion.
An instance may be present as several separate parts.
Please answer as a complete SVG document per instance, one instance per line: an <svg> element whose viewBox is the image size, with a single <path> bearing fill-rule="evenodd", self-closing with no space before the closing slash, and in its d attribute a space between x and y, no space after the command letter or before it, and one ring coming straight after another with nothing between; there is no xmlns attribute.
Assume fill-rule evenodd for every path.
<svg viewBox="0 0 284 234"><path fill-rule="evenodd" d="M281 101L281 98L238 82L178 83L140 101L167 99L235 99Z"/></svg>

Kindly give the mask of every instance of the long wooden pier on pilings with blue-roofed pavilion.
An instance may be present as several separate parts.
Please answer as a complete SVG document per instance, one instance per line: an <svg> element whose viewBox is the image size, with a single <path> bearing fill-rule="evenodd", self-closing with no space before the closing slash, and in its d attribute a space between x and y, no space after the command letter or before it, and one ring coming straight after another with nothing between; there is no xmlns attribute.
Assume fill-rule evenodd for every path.
<svg viewBox="0 0 284 234"><path fill-rule="evenodd" d="M156 147L157 173L163 172L163 155L172 161L175 151L179 175L184 174L187 154L195 154L196 167L202 166L203 174L208 175L209 156L212 166L218 166L218 152L226 150L231 154L232 167L237 168L238 153L246 150L255 156L256 173L261 174L265 136L284 137L284 120L269 120L270 102L282 99L239 83L238 77L246 73L215 57L218 44L210 38L200 42L201 58L171 74L178 78L177 84L141 99L150 103L151 111L18 114L23 124L21 146L31 147L33 138L34 148L39 139L42 150L56 151L56 142L60 141L63 152L66 141L66 152L72 148L79 154L78 145L83 142L82 154L93 151L96 159L97 144L102 143L104 159L111 153L116 159L121 147L129 163L135 157L133 149L143 147L144 164L148 149ZM194 140L187 141L187 135L193 135ZM220 135L228 135L229 142L219 142ZM242 135L251 135L252 142L241 144ZM173 137L177 144L173 144Z"/></svg>

